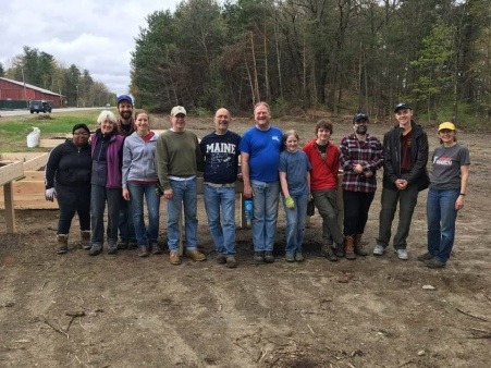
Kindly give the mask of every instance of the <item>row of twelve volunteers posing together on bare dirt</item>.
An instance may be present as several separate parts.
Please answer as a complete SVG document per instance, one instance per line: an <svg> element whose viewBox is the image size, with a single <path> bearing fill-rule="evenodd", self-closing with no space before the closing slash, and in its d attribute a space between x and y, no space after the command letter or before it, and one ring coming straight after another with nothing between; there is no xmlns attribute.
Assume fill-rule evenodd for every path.
<svg viewBox="0 0 491 368"><path fill-rule="evenodd" d="M230 130L230 112L221 108L214 131L198 139L186 128L184 107L172 109L171 127L160 136L150 130L149 114L132 118L133 101L120 96L116 120L102 111L90 136L85 124L73 127L73 139L54 148L46 167L46 198L58 198L60 219L57 252L67 252L70 224L75 212L81 222L82 246L97 255L103 247L107 203L109 254L130 247L132 229L138 256L160 254L158 243L160 195L167 201L167 236L170 262L180 265L181 211L184 212L184 256L201 261L198 250L197 176L204 174L204 200L208 226L217 248L217 262L235 268L235 185L243 181L243 196L253 199L254 260L273 262L280 200L286 216L285 260L303 261L308 203L322 218L321 254L331 261L367 256L361 236L377 191L377 171L383 168L379 235L373 255L382 256L391 240L395 211L400 211L393 247L408 259L407 236L418 193L429 187L427 200L428 252L418 257L429 268L443 268L455 237L455 221L464 207L469 175L468 149L457 144L455 125L439 125L441 146L433 154L428 174L428 136L413 120L407 103L395 107L397 125L381 143L368 133L369 116L353 118L354 132L331 142L333 126L320 120L316 137L299 148L294 131L271 125L268 103L254 107L255 126L241 137ZM90 143L89 143L90 140ZM241 159L241 164L238 160ZM342 177L340 177L340 168ZM241 172L240 172L241 170ZM342 181L343 229L337 221L337 183ZM281 198L281 199L280 199ZM148 211L145 224L144 200ZM120 233L120 242L118 242Z"/></svg>

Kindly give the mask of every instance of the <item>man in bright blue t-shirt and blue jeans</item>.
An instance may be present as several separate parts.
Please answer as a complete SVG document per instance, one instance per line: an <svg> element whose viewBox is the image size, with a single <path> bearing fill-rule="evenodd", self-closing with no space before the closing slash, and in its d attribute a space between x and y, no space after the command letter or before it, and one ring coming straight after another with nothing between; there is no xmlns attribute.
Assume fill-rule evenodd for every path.
<svg viewBox="0 0 491 368"><path fill-rule="evenodd" d="M266 102L254 107L256 126L241 140L244 197L254 199L254 260L271 263L280 195L280 151L283 133L270 125L271 113Z"/></svg>

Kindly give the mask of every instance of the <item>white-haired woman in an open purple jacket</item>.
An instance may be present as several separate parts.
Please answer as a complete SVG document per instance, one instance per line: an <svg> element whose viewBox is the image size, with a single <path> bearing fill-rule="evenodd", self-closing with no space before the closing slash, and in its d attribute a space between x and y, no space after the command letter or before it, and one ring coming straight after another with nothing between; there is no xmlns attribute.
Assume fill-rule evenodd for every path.
<svg viewBox="0 0 491 368"><path fill-rule="evenodd" d="M122 196L121 165L124 137L118 135L116 118L111 111L102 111L97 123L99 128L91 136L90 256L97 256L102 252L106 203L108 203L108 253L112 255L118 252L119 203Z"/></svg>

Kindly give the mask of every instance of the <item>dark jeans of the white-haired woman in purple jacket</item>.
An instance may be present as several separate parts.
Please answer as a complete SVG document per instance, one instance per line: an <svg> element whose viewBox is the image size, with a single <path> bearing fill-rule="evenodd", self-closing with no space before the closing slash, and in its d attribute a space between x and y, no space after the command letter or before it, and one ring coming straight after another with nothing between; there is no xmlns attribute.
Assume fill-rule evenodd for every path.
<svg viewBox="0 0 491 368"><path fill-rule="evenodd" d="M93 185L90 193L91 243L102 245L105 242L105 210L108 203L108 242L118 242L118 216L122 192L120 188L107 188Z"/></svg>

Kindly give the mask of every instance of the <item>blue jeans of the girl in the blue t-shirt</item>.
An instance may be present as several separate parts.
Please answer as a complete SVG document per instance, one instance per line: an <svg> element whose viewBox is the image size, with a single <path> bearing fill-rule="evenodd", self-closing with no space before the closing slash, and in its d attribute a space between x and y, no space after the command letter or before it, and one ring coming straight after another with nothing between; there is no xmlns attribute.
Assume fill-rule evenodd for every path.
<svg viewBox="0 0 491 368"><path fill-rule="evenodd" d="M307 218L308 194L292 196L295 208L286 208L285 198L282 196L286 214L286 248L285 253L302 253L304 243L305 220Z"/></svg>

